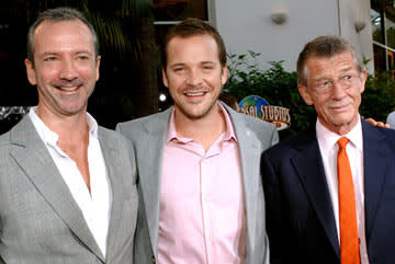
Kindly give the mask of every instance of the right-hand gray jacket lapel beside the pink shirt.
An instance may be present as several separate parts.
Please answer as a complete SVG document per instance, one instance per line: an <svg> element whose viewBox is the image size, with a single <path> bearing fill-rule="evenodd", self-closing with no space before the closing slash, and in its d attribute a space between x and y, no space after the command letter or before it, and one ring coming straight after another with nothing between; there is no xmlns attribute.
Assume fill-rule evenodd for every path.
<svg viewBox="0 0 395 264"><path fill-rule="evenodd" d="M226 105L225 105L226 107ZM257 197L260 184L259 164L261 154L261 142L256 134L237 115L228 111L239 145L240 164L242 172L242 185L246 204L247 219L247 252L255 249L257 226ZM263 198L263 197L262 197ZM262 219L260 219L262 220ZM262 249L263 250L263 249Z"/></svg>

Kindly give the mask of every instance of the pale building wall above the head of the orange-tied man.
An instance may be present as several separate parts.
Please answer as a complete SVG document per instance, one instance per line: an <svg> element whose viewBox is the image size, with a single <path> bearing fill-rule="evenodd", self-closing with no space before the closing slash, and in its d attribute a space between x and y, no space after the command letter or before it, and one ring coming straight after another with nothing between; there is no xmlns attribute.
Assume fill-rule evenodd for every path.
<svg viewBox="0 0 395 264"><path fill-rule="evenodd" d="M350 41L358 44L359 50L363 50L368 58L373 56L369 32L370 0L211 1L215 1L215 12L212 12L211 19L222 34L227 51L245 54L250 49L261 53L264 68L269 67L267 61L285 60L284 68L295 70L303 46L316 36L328 34L350 34ZM341 10L339 14L339 9L349 9L349 12ZM271 21L271 14L278 11L287 14L284 24L278 25ZM368 18L366 26L360 34L356 33L352 21L348 19L350 13L353 20L360 14L363 20ZM370 42L364 42L366 35Z"/></svg>

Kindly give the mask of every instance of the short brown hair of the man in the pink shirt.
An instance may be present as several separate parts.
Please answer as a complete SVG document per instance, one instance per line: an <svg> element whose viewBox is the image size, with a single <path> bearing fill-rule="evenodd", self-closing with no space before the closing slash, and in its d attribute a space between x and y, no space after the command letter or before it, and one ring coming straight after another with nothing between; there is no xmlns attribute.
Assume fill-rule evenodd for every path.
<svg viewBox="0 0 395 264"><path fill-rule="evenodd" d="M166 70L167 66L167 48L170 41L174 37L191 37L199 35L210 35L214 38L218 48L218 56L221 66L224 67L226 65L226 48L224 41L217 30L207 24L206 22L199 19L187 19L177 25L172 26L163 38L163 44L161 48L161 64L163 69Z"/></svg>

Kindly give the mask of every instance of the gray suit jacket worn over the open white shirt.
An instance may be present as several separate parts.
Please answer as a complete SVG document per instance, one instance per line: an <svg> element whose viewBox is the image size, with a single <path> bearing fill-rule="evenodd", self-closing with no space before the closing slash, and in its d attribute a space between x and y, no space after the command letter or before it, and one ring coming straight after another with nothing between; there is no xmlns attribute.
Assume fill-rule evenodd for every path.
<svg viewBox="0 0 395 264"><path fill-rule="evenodd" d="M99 140L113 195L105 259L31 119L0 136L0 263L132 263L133 148L102 127Z"/></svg>

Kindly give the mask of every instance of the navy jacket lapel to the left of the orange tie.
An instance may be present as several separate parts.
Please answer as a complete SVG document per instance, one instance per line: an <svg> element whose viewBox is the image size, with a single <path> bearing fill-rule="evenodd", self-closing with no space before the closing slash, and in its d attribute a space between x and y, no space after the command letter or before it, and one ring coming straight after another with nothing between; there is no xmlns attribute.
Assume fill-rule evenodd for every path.
<svg viewBox="0 0 395 264"><path fill-rule="evenodd" d="M315 129L307 137L301 136L297 142L298 152L292 158L292 163L335 252L340 256L334 209Z"/></svg>

